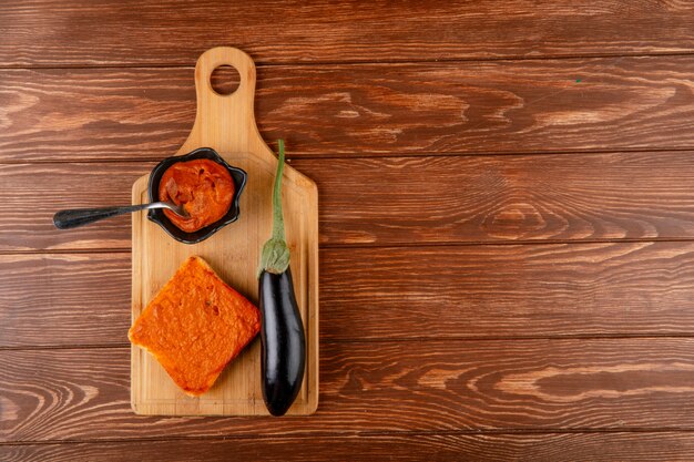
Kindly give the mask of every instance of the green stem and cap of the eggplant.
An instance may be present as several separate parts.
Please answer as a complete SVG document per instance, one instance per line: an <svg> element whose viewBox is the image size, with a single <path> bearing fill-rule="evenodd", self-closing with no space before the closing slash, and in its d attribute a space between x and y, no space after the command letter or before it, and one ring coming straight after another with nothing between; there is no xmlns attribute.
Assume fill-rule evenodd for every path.
<svg viewBox="0 0 694 462"><path fill-rule="evenodd" d="M273 189L273 235L263 246L261 255L261 268L263 271L279 275L289 267L289 247L284 233L284 216L282 214L282 172L284 171L284 140L278 141L279 158L275 186Z"/></svg>

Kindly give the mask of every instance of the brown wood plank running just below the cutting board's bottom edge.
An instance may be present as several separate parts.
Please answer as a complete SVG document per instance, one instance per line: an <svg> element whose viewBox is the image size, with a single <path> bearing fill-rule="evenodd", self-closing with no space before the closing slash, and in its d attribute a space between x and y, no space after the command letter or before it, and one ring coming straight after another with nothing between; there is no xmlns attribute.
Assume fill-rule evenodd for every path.
<svg viewBox="0 0 694 462"><path fill-rule="evenodd" d="M139 417L127 348L2 351L0 441L692 430L693 351L683 338L327 345L318 411L292 419Z"/></svg>

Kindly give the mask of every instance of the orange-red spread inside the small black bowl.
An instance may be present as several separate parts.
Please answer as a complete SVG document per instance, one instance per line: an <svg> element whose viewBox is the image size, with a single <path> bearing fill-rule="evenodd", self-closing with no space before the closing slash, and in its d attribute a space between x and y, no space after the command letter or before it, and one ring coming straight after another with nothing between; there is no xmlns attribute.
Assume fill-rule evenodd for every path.
<svg viewBox="0 0 694 462"><path fill-rule="evenodd" d="M159 199L182 205L188 217L164 209L178 228L193 233L221 219L234 197L234 179L224 165L207 158L176 162L159 184Z"/></svg>

